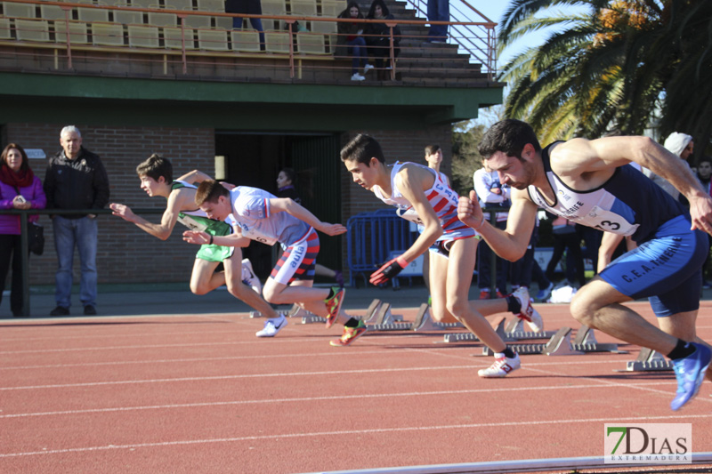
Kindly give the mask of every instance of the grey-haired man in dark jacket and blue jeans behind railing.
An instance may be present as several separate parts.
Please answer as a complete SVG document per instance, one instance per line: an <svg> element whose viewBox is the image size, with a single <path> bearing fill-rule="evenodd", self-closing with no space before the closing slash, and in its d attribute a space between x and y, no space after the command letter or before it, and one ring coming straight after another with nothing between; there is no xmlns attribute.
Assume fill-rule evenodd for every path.
<svg viewBox="0 0 712 474"><path fill-rule="evenodd" d="M47 209L102 209L109 202L109 177L101 159L82 147L74 125L60 133L61 152L50 158L44 175ZM50 316L69 315L74 247L79 251L82 277L79 300L84 314L96 314L96 214L54 214L54 248L59 268L55 275L57 307Z"/></svg>

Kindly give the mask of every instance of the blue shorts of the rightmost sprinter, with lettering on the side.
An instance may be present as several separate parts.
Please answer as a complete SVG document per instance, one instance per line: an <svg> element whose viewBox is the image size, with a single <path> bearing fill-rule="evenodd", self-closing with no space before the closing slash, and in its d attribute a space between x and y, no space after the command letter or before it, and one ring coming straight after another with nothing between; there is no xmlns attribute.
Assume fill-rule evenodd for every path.
<svg viewBox="0 0 712 474"><path fill-rule="evenodd" d="M600 277L634 300L648 298L657 317L700 309L707 235L690 230L684 216L667 221L655 237L624 253Z"/></svg>

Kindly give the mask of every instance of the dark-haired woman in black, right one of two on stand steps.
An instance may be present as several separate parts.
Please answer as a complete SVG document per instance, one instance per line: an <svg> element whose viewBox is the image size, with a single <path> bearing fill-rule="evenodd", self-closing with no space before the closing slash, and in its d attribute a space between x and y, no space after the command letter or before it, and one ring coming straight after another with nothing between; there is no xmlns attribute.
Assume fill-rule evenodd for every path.
<svg viewBox="0 0 712 474"><path fill-rule="evenodd" d="M373 0L366 18L369 20L393 20L384 0ZM391 28L384 23L368 23L365 28L368 53L376 59L376 78L385 81L391 78ZM401 28L393 27L393 59L401 53ZM385 66L384 66L385 65Z"/></svg>

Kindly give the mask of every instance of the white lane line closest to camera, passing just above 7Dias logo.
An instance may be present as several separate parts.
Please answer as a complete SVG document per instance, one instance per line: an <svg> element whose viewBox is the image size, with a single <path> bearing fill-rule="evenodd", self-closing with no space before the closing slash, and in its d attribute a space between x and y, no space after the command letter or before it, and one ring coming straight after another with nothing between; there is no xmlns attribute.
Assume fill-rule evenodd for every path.
<svg viewBox="0 0 712 474"><path fill-rule="evenodd" d="M398 433L412 431L436 431L436 430L465 430L474 428L498 428L498 427L522 427L522 426L542 426L554 425L561 426L562 424L580 424L590 422L650 422L653 420L667 421L680 419L706 419L712 418L712 414L673 414L667 416L638 416L630 418L587 418L576 420L542 420L538 422L496 422L496 423L471 423L471 424L456 424L456 425L434 425L434 426L410 426L401 428L372 428L369 430L343 430L343 431L321 431L315 433L286 433L261 436L245 436L235 438L205 438L205 439L185 439L176 441L162 441L156 443L137 443L132 445L107 445L107 446L86 446L72 447L65 449L48 449L44 451L27 451L20 453L4 453L0 454L0 458L12 458L20 456L35 456L41 454L68 454L68 453L86 453L92 451L108 451L119 449L138 449L147 447L166 447L166 446L190 446L190 445L206 445L213 443L238 443L241 441L275 441L279 439L295 439L295 438L316 438L316 437L335 437L335 436L353 436L353 435L368 435L375 433Z"/></svg>

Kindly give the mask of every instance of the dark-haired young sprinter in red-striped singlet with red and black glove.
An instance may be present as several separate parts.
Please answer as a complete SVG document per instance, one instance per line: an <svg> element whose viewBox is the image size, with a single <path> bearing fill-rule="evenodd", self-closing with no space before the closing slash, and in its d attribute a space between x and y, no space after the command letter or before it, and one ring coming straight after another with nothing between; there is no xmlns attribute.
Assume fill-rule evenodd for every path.
<svg viewBox="0 0 712 474"><path fill-rule="evenodd" d="M478 237L473 229L457 219L457 193L441 174L416 163L386 165L381 146L363 134L341 150L341 160L352 173L353 181L373 191L385 204L397 207L396 213L416 222L420 232L413 245L376 270L370 282L384 284L430 249L438 256L431 260L430 268L433 318L463 323L494 352L494 364L479 371L481 377L505 377L518 369L519 356L506 346L485 316L511 311L534 323L539 330L541 317L531 307L529 294L526 301L514 295L506 299L468 301Z"/></svg>

